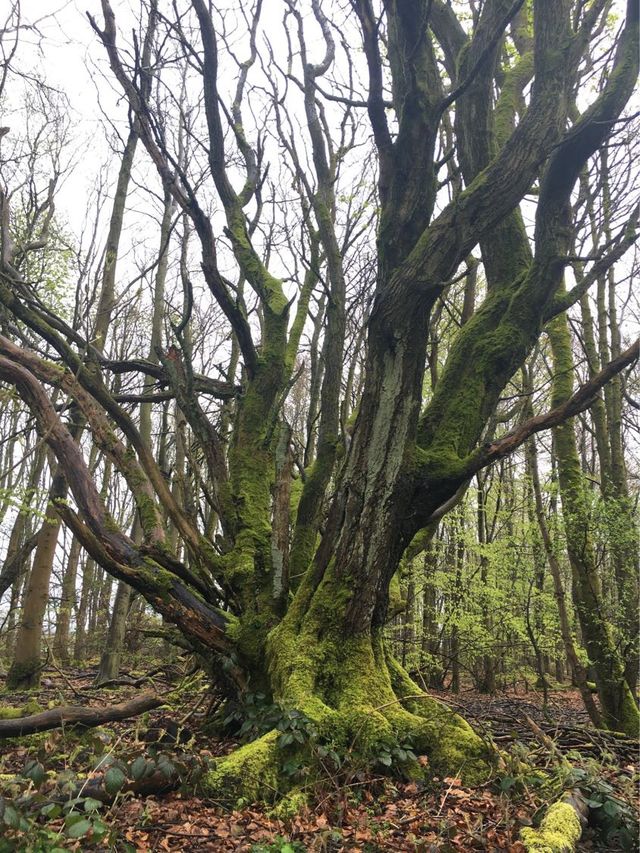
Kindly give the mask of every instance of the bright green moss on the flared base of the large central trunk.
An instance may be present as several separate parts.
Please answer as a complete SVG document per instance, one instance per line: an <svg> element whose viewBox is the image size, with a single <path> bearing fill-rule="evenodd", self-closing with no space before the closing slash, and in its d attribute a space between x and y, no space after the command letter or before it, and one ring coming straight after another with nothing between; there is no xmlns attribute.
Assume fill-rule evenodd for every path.
<svg viewBox="0 0 640 853"><path fill-rule="evenodd" d="M340 596L320 607L322 589L299 629L288 617L269 637L274 696L362 754L379 744L411 742L438 772L470 782L491 772L492 750L446 705L430 698L384 649L379 633L345 638Z"/></svg>

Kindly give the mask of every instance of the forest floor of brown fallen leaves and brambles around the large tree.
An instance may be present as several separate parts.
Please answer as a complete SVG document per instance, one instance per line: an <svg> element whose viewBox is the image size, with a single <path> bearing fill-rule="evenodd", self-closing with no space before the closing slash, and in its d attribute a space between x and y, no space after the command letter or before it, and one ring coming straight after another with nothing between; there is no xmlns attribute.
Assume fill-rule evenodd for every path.
<svg viewBox="0 0 640 853"><path fill-rule="evenodd" d="M46 709L58 705L105 707L140 693L128 678L110 687L93 687L91 668L43 673L37 693L0 694L2 708L27 702ZM153 687L162 695L170 679ZM482 787L465 787L453 777L428 783L393 782L382 773L338 778L327 773L313 784L315 806L287 821L266 807L249 803L225 808L197 791L203 763L225 754L236 741L213 740L203 731L212 697L198 678L183 688L172 710L151 711L135 720L79 731L67 728L0 741L0 853L4 851L114 850L243 851L243 853L338 853L338 851L523 851L520 829L530 826L563 788L579 788L591 803L599 829L588 827L578 850L637 849L636 744L595 731L588 725L579 694L550 693L546 713L542 696L522 690L489 697L472 690L437 693L478 731L491 736L509 766L548 771L551 784L535 770L504 769ZM168 734L164 732L168 731ZM185 741L185 742L182 742ZM137 765L134 764L138 758ZM568 769L569 761L573 770ZM426 763L426 760L425 760ZM143 793L171 771L187 779L182 790L145 796L124 793L111 804L95 799L96 783L111 783ZM115 768L115 769L113 769ZM124 774L118 780L118 769ZM155 769L155 774L154 774ZM381 767L381 770L383 768ZM115 774L115 776L114 776ZM149 784L144 780L150 776ZM171 787L167 783L165 788ZM54 796L53 791L57 794ZM60 796L62 792L62 796ZM88 795L89 794L89 795ZM98 795L99 796L99 795ZM67 804L60 805L66 797Z"/></svg>

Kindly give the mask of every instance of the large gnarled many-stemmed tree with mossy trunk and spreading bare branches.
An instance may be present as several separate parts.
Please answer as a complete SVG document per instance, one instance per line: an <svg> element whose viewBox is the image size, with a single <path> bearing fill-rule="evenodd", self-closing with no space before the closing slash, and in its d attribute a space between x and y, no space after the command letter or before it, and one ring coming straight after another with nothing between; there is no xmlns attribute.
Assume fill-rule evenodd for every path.
<svg viewBox="0 0 640 853"><path fill-rule="evenodd" d="M181 14L170 22L155 0L148 4L151 26L167 27L170 34L158 38L158 49L174 51L172 62L190 63L201 78L206 137L194 148L207 153L205 177L215 185L226 220L237 285L218 262L217 226L207 213L208 181L195 180L189 162L172 150L156 103L139 85L146 69L129 67L131 56L125 59L119 48L111 6L101 2L104 22L91 18L92 26L165 189L199 238L202 273L233 333L243 374L238 391L233 376L225 385L194 373L184 334L188 311L174 327L176 346L160 356L161 367L112 365L120 371L149 370L175 396L201 447L211 484L207 495L216 523L207 533L178 504L133 419L109 393L96 369L109 370L109 364L23 298L28 287L3 253L0 301L5 310L44 339L66 366L62 373L0 340L0 378L17 387L67 472L77 513L64 502L58 511L95 560L178 626L228 689L266 692L275 702L298 709L322 736L344 748L357 742L366 753L379 743L410 741L429 755L433 768L482 779L491 765L485 744L462 719L426 696L385 649L389 589L405 549L456 503L474 473L533 432L582 410L608 378L637 357L636 345L550 414L483 443L500 395L543 326L593 281L589 267L571 290L561 290L572 249L571 193L589 158L614 132L633 90L637 3L628 3L601 91L578 114L575 88L591 39L606 23L610 4L604 0L486 0L472 22L466 15L458 18L456 5L442 0L352 0L346 13L338 8L344 4L334 9L312 0L311 23L298 4L284 0L290 39L297 45L295 51L290 47L291 63L295 53L303 66L296 91L304 105L313 164L313 174L306 174L305 159L288 135L286 98L276 82L278 57L272 52L268 120L290 160L305 239L315 258L295 302L268 269L256 238L264 147L262 137L255 150L250 143L243 104L258 55L262 4L256 3L250 18L248 58L239 64L232 102L224 110L218 82L223 36L210 5L205 0L179 3L184 8L176 7ZM331 14L342 17L332 20ZM305 29L312 24L324 42L324 56L317 62L305 45ZM368 82L364 100L336 90L329 93L331 103L349 115L368 112L379 205L363 388L348 434L339 417L342 256L348 241L340 240L343 201L336 185L349 143L343 135L334 144L323 100L337 61L337 24L359 33L366 60L360 70ZM224 56L231 61L230 54ZM161 59L157 65L162 66ZM192 134L191 126L181 125L183 118L177 117L176 125ZM227 120L235 140L233 166L226 159L232 147ZM438 153L443 139L451 146L444 157ZM452 157L459 169L445 182L445 198L440 170ZM236 188L239 162L245 174ZM528 233L520 203L534 186L535 227ZM598 270L618 259L632 241L630 230L621 234L595 262ZM486 295L460 328L425 402L431 312L478 246ZM257 305L259 333L248 316L245 287ZM318 453L302 490L289 564L281 535L289 507L276 499L287 495L279 488L286 471L282 405L295 376L310 294L318 287L328 306ZM187 288L187 306L190 296ZM142 545L134 545L109 518L43 384L60 387L75 401L94 441L126 479L139 510ZM235 394L234 403L225 404L225 417L233 417L228 448L201 405L203 394ZM188 560L176 558L165 518ZM211 530L218 532L215 542ZM295 569L291 580L288 565ZM282 760L277 735L270 732L221 761L209 787L217 794L234 791L250 798L283 793Z"/></svg>

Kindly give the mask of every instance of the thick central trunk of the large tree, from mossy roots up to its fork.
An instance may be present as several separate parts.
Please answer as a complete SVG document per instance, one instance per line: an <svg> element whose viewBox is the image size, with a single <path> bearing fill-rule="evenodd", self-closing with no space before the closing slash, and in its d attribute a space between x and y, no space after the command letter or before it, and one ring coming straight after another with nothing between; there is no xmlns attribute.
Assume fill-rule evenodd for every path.
<svg viewBox="0 0 640 853"><path fill-rule="evenodd" d="M414 464L426 329L413 312L407 338L392 345L379 319L372 321L375 354L324 538L268 637L270 686L274 699L298 708L334 743L371 756L382 743L411 741L434 768L462 767L479 780L488 775L490 751L466 722L423 693L381 638L402 553L458 484L448 483L444 495L436 491L421 511L411 504L405 475ZM264 781L272 784L281 760L275 740L267 735L221 762L207 779L209 790L220 795L240 785L253 796Z"/></svg>

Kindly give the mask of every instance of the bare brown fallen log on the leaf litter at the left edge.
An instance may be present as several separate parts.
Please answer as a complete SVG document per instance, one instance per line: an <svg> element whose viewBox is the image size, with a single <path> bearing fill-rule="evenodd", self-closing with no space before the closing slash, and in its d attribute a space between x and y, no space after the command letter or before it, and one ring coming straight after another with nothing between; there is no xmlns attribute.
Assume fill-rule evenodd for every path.
<svg viewBox="0 0 640 853"><path fill-rule="evenodd" d="M85 708L82 705L63 705L29 717L0 720L0 738L21 737L36 732L45 732L62 726L92 728L103 723L114 723L137 717L145 711L159 708L165 700L157 693L146 691L125 702L107 708Z"/></svg>

